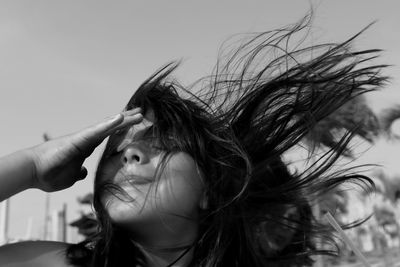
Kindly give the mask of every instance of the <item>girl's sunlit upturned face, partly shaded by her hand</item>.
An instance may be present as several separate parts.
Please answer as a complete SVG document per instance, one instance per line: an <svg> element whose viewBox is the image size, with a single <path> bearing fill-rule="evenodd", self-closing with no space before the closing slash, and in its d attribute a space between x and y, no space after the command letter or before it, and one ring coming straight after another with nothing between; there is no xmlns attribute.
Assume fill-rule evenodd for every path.
<svg viewBox="0 0 400 267"><path fill-rule="evenodd" d="M160 149L152 135L154 123L149 110L141 123L112 135L99 165L96 184L110 182L128 195L108 191L101 195L115 224L168 226L197 219L203 189L197 164L187 153L167 154Z"/></svg>

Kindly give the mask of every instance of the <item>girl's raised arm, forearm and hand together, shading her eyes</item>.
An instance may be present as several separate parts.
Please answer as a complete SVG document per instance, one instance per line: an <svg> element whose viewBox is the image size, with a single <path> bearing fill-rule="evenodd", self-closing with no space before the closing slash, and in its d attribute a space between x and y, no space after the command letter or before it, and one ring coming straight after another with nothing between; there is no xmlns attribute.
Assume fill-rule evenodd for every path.
<svg viewBox="0 0 400 267"><path fill-rule="evenodd" d="M0 201L30 188L59 191L86 177L83 162L110 134L143 119L131 110L96 125L0 158Z"/></svg>

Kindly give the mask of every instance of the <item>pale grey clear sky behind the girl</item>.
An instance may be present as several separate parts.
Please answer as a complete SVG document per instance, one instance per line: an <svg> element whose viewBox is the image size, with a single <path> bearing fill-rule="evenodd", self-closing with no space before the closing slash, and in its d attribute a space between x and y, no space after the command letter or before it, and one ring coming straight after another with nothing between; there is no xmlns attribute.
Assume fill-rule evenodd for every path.
<svg viewBox="0 0 400 267"><path fill-rule="evenodd" d="M44 132L61 136L118 113L165 63L181 60L175 77L190 84L210 74L228 37L295 23L311 7L315 44L344 41L376 21L356 47L383 49L393 78L368 99L376 111L400 104L396 0L0 0L0 155L41 143ZM101 149L85 163L86 180L50 196L51 210L68 204L68 221L92 189ZM32 218L40 237L45 197L32 189L11 198L10 236L24 236Z"/></svg>

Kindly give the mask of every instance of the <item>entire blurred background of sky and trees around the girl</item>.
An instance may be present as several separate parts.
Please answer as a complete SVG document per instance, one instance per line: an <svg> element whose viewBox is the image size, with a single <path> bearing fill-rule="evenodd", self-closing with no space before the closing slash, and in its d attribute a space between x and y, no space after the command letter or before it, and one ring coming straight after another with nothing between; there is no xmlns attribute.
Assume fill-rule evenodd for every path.
<svg viewBox="0 0 400 267"><path fill-rule="evenodd" d="M332 119L365 123L368 134L357 137L348 161L379 164L366 170L378 190L372 195L338 191L320 209L334 210L343 223L373 214L346 233L373 264L395 266L400 252L399 7L395 0L1 0L0 154L118 113L135 88L170 61L182 60L175 76L183 84L210 74L218 48L233 34L295 23L311 8L311 44L344 41L375 21L355 48L383 49L377 63L392 65L385 73L392 80L386 90L355 100ZM327 122L318 130L323 134L330 127ZM74 243L92 234L91 192L101 150L85 163L88 178L74 187L52 194L28 190L1 203L0 243ZM359 263L343 244L340 259L322 264Z"/></svg>

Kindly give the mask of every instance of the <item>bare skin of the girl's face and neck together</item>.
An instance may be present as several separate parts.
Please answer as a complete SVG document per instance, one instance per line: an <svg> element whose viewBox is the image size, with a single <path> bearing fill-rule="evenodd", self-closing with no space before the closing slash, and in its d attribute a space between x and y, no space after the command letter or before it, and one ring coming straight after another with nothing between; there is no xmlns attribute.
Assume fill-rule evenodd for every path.
<svg viewBox="0 0 400 267"><path fill-rule="evenodd" d="M129 195L108 193L102 202L113 223L143 250L148 265L166 266L182 253L166 248L191 245L197 237L203 182L196 162L184 152L168 155L157 176L167 152L151 136L154 123L150 110L140 123L111 136L96 183L111 181ZM191 257L190 252L176 266L186 266Z"/></svg>

